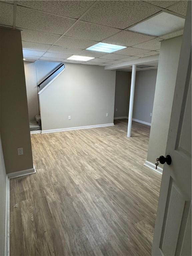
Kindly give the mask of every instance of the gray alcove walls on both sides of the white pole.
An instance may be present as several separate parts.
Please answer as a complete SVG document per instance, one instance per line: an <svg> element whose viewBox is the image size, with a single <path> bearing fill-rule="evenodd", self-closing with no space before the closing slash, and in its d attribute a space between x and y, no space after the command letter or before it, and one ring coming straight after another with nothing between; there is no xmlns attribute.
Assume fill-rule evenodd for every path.
<svg viewBox="0 0 192 256"><path fill-rule="evenodd" d="M157 70L136 72L133 118L151 123ZM116 72L114 117L129 115L131 72ZM117 111L116 111L117 108Z"/></svg>

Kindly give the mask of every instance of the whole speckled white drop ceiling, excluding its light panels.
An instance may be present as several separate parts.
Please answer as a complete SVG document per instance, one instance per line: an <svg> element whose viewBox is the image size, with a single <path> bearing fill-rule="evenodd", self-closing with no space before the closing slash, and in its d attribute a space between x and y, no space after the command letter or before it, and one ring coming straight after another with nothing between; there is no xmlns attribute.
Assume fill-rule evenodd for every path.
<svg viewBox="0 0 192 256"><path fill-rule="evenodd" d="M157 37L129 28L161 12L185 18L186 8L187 1L0 0L0 26L21 30L27 61L107 66L159 54L160 41L182 35L183 29ZM109 54L86 50L98 42L127 48ZM95 59L66 60L72 55Z"/></svg>

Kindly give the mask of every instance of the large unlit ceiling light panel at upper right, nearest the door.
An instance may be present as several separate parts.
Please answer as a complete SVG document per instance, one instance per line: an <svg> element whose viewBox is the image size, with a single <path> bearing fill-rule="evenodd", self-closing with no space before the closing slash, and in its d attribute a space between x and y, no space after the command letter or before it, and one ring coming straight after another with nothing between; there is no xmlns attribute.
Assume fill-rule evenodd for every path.
<svg viewBox="0 0 192 256"><path fill-rule="evenodd" d="M161 12L152 18L131 27L129 30L147 35L161 36L182 29L184 28L184 25L184 18L167 12Z"/></svg>

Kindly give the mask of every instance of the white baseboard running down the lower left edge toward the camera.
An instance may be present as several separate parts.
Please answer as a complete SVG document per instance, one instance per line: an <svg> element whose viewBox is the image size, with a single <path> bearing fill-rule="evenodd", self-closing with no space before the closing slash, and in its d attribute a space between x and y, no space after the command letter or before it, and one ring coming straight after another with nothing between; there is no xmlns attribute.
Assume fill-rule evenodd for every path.
<svg viewBox="0 0 192 256"><path fill-rule="evenodd" d="M9 256L9 222L10 222L10 194L9 194L9 178L8 175L6 175L6 202L5 202L5 256Z"/></svg>

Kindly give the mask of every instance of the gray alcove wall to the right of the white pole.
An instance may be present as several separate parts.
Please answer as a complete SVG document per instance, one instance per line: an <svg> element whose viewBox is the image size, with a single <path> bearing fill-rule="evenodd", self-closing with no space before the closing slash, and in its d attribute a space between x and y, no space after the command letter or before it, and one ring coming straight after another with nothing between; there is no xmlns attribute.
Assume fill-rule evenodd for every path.
<svg viewBox="0 0 192 256"><path fill-rule="evenodd" d="M151 123L157 70L136 72L133 118ZM127 116L129 112L127 112Z"/></svg>

